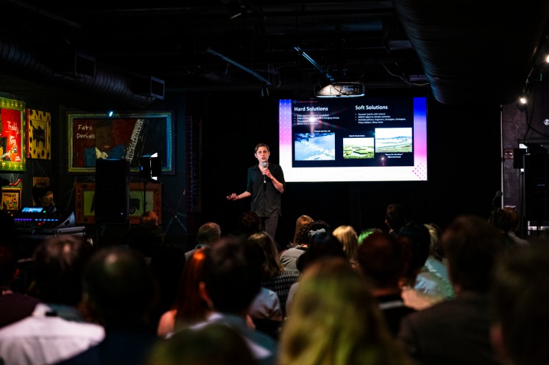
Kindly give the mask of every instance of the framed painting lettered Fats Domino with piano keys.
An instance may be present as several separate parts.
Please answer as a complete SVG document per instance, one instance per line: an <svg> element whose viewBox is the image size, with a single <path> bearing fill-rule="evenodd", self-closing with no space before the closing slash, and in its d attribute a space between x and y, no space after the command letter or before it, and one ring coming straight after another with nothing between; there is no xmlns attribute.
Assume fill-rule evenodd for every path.
<svg viewBox="0 0 549 365"><path fill-rule="evenodd" d="M97 158L130 161L130 171L139 172L142 156L157 153L162 174L175 174L174 113L67 112L69 173L95 174Z"/></svg>

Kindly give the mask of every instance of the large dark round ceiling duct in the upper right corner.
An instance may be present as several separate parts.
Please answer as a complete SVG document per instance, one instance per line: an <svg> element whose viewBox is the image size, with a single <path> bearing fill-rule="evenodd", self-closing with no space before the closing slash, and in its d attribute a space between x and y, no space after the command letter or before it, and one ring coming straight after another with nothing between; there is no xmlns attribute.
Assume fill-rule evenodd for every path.
<svg viewBox="0 0 549 365"><path fill-rule="evenodd" d="M515 102L543 38L549 1L509 3L497 12L474 1L393 3L439 102Z"/></svg>

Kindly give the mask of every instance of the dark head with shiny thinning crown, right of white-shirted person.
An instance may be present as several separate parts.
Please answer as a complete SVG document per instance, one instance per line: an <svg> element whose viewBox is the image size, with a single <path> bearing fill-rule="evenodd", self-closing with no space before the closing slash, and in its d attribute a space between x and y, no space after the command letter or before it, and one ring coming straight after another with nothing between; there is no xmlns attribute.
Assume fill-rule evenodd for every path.
<svg viewBox="0 0 549 365"><path fill-rule="evenodd" d="M106 331L145 329L156 288L145 258L122 246L94 253L84 272L84 307Z"/></svg>

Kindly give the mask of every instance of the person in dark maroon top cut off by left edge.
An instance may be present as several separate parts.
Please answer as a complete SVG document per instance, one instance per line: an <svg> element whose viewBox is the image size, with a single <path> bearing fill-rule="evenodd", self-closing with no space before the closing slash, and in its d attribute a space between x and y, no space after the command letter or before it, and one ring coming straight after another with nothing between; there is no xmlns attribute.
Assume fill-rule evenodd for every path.
<svg viewBox="0 0 549 365"><path fill-rule="evenodd" d="M32 314L38 299L18 292L12 283L19 275L17 229L10 215L0 214L0 328Z"/></svg>

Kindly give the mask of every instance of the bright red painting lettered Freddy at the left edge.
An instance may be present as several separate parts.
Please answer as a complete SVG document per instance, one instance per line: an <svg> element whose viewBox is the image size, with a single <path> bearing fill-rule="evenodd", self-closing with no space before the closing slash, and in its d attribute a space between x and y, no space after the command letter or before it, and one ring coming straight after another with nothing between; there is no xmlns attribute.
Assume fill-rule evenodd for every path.
<svg viewBox="0 0 549 365"><path fill-rule="evenodd" d="M25 102L0 97L0 171L25 171Z"/></svg>

